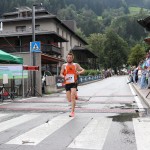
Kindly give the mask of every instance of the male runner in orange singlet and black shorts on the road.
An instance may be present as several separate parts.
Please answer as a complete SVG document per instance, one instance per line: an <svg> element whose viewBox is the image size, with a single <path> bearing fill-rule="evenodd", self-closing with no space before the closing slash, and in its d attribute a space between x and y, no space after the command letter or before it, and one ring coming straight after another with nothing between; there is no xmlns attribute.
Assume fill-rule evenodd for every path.
<svg viewBox="0 0 150 150"><path fill-rule="evenodd" d="M60 71L60 76L65 80L66 97L68 102L72 103L71 113L69 117L75 115L75 96L77 90L77 76L84 73L84 69L77 63L73 63L73 53L68 53L67 63L63 64Z"/></svg>

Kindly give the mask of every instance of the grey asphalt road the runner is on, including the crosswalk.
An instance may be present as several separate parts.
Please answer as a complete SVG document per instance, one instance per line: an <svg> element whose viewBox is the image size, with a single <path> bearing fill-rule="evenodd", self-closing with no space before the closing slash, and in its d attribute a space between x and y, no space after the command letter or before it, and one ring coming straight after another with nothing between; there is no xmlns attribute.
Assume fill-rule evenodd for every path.
<svg viewBox="0 0 150 150"><path fill-rule="evenodd" d="M65 91L0 104L0 150L149 150L149 108L114 76L79 86L70 118Z"/></svg>

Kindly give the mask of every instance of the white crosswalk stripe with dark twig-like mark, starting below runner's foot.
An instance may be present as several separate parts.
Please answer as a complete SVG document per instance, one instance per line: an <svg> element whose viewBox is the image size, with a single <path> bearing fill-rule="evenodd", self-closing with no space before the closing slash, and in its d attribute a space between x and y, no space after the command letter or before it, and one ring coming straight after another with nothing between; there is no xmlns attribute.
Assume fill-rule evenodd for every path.
<svg viewBox="0 0 150 150"><path fill-rule="evenodd" d="M73 118L68 116L60 115L48 121L47 123L33 128L32 130L16 137L15 139L12 139L6 144L37 145L72 119Z"/></svg>

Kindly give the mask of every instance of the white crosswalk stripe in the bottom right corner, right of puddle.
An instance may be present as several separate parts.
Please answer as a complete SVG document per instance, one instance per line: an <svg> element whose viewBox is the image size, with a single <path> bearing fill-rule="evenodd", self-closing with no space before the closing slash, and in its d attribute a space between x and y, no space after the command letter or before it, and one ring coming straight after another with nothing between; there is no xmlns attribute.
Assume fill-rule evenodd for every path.
<svg viewBox="0 0 150 150"><path fill-rule="evenodd" d="M150 149L150 118L133 118L137 150Z"/></svg>

